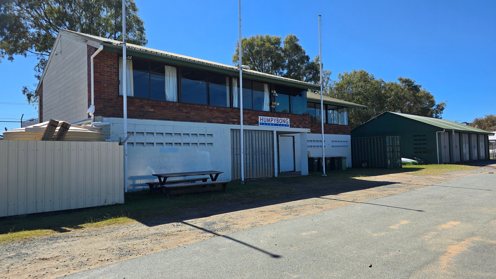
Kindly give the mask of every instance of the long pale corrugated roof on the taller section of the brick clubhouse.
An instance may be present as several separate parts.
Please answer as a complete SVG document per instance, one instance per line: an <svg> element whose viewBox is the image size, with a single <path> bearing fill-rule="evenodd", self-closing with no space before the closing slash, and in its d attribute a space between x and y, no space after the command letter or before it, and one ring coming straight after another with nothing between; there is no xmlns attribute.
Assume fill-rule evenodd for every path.
<svg viewBox="0 0 496 279"><path fill-rule="evenodd" d="M112 39L102 38L102 37L98 37L98 36L88 35L88 34L70 31L70 30L65 30L65 29L61 29L60 31L61 32L67 32L67 33L81 36L81 37L85 37L87 39L97 41L97 42L100 42L103 44L109 44L109 45L113 45L113 46L121 46L121 48L122 48L122 42L121 41L116 41L116 40L112 40ZM158 55L168 56L168 57L172 57L172 58L176 58L176 59L180 59L180 60L185 60L185 61L189 61L189 62L195 62L198 64L204 64L204 65L210 65L210 66L214 66L214 67L229 69L229 70L233 70L233 73L239 72L239 68L237 66L233 66L233 65L227 65L227 64L217 63L217 62L213 62L213 61L198 59L198 58L194 58L194 57L190 57L190 56L184 56L184 55L164 52L164 51L151 49L151 48L147 48L147 47L142 47L142 46L138 46L138 45L133 45L133 44L129 44L129 43L126 44L126 47L127 47L127 49L132 49L132 50L136 50L136 51L147 52L147 53L151 53L151 54L158 54ZM248 70L248 69L243 69L243 72L246 72L246 73L249 73L252 75L257 75L260 77L271 78L271 79L275 79L275 80L293 83L293 84L298 85L298 86L305 88L305 89L313 89L313 90L319 90L320 89L319 85L304 82L301 80L266 74L266 73L262 73L262 72L258 72L258 71L254 71L254 70Z"/></svg>

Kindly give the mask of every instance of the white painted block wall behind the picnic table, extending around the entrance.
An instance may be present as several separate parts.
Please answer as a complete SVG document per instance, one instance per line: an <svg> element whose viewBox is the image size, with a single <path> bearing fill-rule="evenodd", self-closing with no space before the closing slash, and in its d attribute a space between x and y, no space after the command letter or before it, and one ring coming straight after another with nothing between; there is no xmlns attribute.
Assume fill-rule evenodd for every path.
<svg viewBox="0 0 496 279"><path fill-rule="evenodd" d="M122 139L123 118L110 118L110 122L111 140ZM158 181L153 173L212 169L224 172L218 179L230 181L231 129L239 129L239 125L127 119L127 131L133 133L127 141L128 190L139 191L147 188L146 182ZM297 154L305 148L309 131L262 126L245 126L245 129L299 132L295 136ZM303 155L306 158L307 151L300 153L297 168L303 169L302 174L305 175L308 174L308 162L301 159ZM277 164L274 168L277 170Z"/></svg>

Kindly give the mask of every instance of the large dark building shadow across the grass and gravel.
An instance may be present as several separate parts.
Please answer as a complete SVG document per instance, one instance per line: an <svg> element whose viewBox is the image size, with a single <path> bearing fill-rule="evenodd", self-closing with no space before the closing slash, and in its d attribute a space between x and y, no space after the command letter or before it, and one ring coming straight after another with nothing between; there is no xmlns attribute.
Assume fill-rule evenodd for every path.
<svg viewBox="0 0 496 279"><path fill-rule="evenodd" d="M50 229L66 232L88 223L117 223L116 219L129 218L147 226L310 199L328 195L395 184L392 181L368 181L355 177L376 176L388 173L417 171L417 168L400 169L348 169L331 171L327 177L320 172L308 176L277 177L230 182L227 193L205 192L171 196L150 195L148 191L125 194L125 203L90 209L67 210L21 217L0 218L0 234L22 230ZM105 223L106 224L106 223Z"/></svg>

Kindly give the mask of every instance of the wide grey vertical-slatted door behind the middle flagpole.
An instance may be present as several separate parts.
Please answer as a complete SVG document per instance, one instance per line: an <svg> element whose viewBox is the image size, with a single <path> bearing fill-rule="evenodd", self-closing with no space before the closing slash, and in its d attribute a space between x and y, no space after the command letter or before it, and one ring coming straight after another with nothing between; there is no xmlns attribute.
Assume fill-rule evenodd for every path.
<svg viewBox="0 0 496 279"><path fill-rule="evenodd" d="M240 130L231 130L233 180L241 179ZM245 179L274 175L274 134L272 131L243 130Z"/></svg>

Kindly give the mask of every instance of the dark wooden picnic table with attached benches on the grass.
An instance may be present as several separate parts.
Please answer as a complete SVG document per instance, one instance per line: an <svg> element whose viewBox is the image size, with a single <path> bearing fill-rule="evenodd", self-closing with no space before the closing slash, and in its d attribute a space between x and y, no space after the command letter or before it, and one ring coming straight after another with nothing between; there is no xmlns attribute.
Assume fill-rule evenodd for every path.
<svg viewBox="0 0 496 279"><path fill-rule="evenodd" d="M217 170L205 170L205 171L189 171L189 172L173 172L173 173L156 173L154 176L158 177L158 182L148 182L150 187L150 192L153 191L155 186L160 186L160 189L169 195L176 194L186 194L195 192L205 192L205 191L215 191L224 190L226 192L226 186L229 181L227 180L217 180L219 174L222 171ZM209 175L211 181L207 181L207 177L200 178L189 178L181 180L167 180L170 177L184 177L184 176L197 176L197 175ZM196 182L200 181L201 182ZM152 186L153 185L153 186Z"/></svg>

